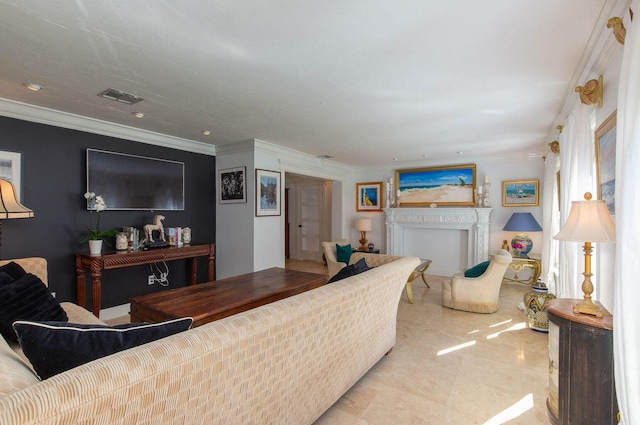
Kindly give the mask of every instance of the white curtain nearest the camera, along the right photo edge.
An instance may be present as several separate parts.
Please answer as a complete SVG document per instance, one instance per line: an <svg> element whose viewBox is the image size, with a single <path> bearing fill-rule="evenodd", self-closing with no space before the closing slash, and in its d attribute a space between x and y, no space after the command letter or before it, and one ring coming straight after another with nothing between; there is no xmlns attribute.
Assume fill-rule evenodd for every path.
<svg viewBox="0 0 640 425"><path fill-rule="evenodd" d="M616 140L616 278L613 346L618 408L622 424L640 424L640 1L627 27L618 88Z"/></svg>

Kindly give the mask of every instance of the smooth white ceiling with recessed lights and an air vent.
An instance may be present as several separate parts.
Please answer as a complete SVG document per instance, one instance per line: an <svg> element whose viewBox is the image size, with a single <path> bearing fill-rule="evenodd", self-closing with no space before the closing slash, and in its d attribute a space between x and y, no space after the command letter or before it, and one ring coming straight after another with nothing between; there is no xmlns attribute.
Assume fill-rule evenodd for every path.
<svg viewBox="0 0 640 425"><path fill-rule="evenodd" d="M613 1L0 0L0 98L353 165L530 155Z"/></svg>

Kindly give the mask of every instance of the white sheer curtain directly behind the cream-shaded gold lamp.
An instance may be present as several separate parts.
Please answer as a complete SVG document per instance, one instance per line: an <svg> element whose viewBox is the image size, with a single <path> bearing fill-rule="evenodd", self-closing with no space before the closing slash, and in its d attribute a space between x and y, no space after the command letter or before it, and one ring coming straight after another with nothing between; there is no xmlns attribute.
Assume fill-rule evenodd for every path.
<svg viewBox="0 0 640 425"><path fill-rule="evenodd" d="M593 108L577 101L560 133L561 227L569 216L571 201L584 200L585 192L594 193L595 141L590 121ZM583 296L584 256L581 246L578 242L559 243L560 277L555 288L558 298Z"/></svg>

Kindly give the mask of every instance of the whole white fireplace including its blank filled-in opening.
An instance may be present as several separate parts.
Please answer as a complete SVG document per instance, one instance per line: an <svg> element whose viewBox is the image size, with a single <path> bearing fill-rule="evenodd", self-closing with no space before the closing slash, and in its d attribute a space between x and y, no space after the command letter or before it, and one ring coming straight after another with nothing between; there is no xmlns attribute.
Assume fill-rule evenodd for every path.
<svg viewBox="0 0 640 425"><path fill-rule="evenodd" d="M387 254L429 258L450 276L489 259L491 208L385 208Z"/></svg>

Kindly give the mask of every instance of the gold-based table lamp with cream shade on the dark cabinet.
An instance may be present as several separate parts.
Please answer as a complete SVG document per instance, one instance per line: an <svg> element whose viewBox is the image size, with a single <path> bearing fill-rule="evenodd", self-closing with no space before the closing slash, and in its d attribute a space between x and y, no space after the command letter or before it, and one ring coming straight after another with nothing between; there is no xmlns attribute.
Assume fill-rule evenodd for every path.
<svg viewBox="0 0 640 425"><path fill-rule="evenodd" d="M616 224L609 214L603 200L591 200L591 193L584 194L584 201L571 202L569 217L560 232L553 238L559 241L584 242L584 298L573 306L574 313L590 314L602 317L600 307L591 301L593 283L591 282L591 242L615 242Z"/></svg>

